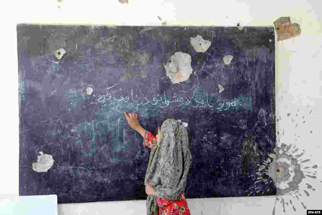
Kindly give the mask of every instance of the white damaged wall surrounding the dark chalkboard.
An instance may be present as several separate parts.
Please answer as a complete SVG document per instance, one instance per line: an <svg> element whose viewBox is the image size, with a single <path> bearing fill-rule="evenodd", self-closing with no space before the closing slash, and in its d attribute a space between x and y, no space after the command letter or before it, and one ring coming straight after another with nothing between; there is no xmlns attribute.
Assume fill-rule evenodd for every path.
<svg viewBox="0 0 322 215"><path fill-rule="evenodd" d="M18 66L16 23L41 24L116 24L160 25L159 15L169 25L243 26L273 25L280 16L290 16L300 24L302 35L276 44L276 110L282 120L277 129L285 129L283 142L295 143L307 151L312 164L321 163L320 119L322 113L321 66L322 60L322 4L308 1L161 1L128 0L57 0L4 1L1 3L1 150L0 193L18 193ZM61 5L61 8L58 8ZM283 99L282 99L283 98ZM309 108L307 106L309 105ZM286 114L297 110L313 110L307 123L295 129ZM308 115L309 116L309 115ZM317 117L317 118L315 118ZM313 133L310 134L311 129ZM294 133L300 141L294 141ZM321 168L318 180L307 180L317 191L303 195L308 209L322 209ZM301 184L305 188L305 182ZM192 214L272 214L274 197L188 199ZM286 214L306 214L299 202L294 201L297 212L286 206ZM96 202L61 204L62 214L145 214L144 201ZM283 210L278 203L276 214Z"/></svg>

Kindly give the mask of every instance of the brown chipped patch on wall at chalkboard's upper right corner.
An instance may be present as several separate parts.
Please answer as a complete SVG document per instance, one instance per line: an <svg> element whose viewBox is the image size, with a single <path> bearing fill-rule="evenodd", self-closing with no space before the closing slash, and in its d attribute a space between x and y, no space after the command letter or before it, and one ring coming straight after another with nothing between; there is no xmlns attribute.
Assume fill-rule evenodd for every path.
<svg viewBox="0 0 322 215"><path fill-rule="evenodd" d="M277 41L286 40L301 34L300 25L291 22L290 17L280 17L274 22Z"/></svg>

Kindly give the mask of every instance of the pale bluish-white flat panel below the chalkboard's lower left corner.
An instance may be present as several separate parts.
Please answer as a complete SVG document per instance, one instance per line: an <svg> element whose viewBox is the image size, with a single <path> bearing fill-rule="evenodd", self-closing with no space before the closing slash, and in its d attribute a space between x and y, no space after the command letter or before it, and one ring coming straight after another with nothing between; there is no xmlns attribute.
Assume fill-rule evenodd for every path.
<svg viewBox="0 0 322 215"><path fill-rule="evenodd" d="M57 215L57 195L0 195L0 215Z"/></svg>

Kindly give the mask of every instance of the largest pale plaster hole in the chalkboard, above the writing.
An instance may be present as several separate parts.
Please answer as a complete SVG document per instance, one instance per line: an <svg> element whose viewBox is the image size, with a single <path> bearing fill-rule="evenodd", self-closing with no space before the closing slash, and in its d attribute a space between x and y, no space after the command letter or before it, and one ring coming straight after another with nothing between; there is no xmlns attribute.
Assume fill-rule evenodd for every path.
<svg viewBox="0 0 322 215"><path fill-rule="evenodd" d="M171 56L171 62L164 65L166 75L172 83L188 80L192 73L191 56L183 52L176 52Z"/></svg>

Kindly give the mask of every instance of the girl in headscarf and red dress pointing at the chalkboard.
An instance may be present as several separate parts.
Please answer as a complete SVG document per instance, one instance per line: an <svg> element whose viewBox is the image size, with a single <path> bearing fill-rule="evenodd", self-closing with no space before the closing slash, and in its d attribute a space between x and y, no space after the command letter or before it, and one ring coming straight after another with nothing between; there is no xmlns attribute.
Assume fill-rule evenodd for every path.
<svg viewBox="0 0 322 215"><path fill-rule="evenodd" d="M184 194L191 166L187 130L181 122L167 119L154 137L142 128L136 113L124 115L129 126L143 136L143 145L151 149L144 180L147 215L190 215Z"/></svg>

